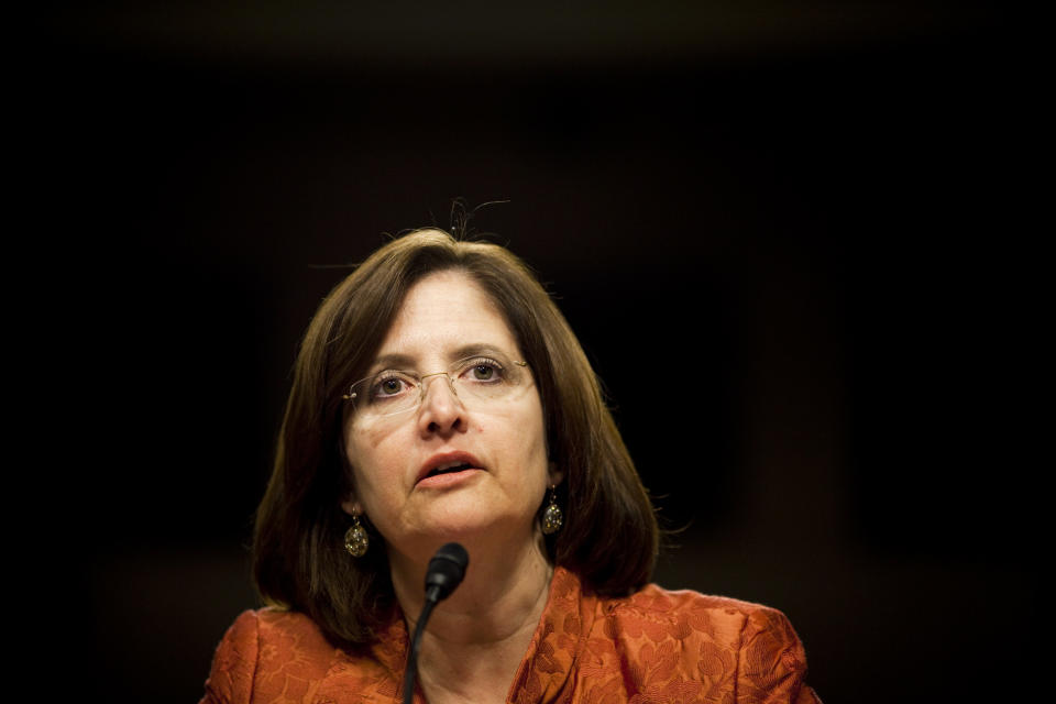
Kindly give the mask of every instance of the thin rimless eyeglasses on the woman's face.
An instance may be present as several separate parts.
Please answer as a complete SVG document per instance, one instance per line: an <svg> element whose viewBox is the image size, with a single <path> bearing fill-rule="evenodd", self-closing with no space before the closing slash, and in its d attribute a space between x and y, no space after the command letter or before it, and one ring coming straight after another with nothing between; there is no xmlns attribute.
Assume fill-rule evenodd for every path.
<svg viewBox="0 0 1056 704"><path fill-rule="evenodd" d="M426 397L428 380L446 376L464 406L480 408L507 400L526 386L527 366L527 362L488 353L459 360L447 372L385 370L352 384L343 398L358 420L386 418L418 408Z"/></svg>

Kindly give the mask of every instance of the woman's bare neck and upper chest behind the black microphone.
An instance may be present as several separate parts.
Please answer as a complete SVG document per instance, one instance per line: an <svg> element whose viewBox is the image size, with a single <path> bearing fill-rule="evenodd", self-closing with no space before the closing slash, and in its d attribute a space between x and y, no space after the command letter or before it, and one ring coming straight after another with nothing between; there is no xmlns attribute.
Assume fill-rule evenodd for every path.
<svg viewBox="0 0 1056 704"><path fill-rule="evenodd" d="M541 541L488 550L465 543L465 580L437 605L422 635L418 676L431 704L505 701L547 604L553 571ZM425 601L425 564L389 553L393 586L414 635Z"/></svg>

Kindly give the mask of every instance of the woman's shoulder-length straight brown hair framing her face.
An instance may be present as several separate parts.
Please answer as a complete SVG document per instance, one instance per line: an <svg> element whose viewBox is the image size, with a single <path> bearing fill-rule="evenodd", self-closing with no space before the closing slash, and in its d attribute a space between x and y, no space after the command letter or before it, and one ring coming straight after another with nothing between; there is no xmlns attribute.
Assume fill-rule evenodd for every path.
<svg viewBox="0 0 1056 704"><path fill-rule="evenodd" d="M367 641L393 603L385 550L355 559L343 548L350 518L340 504L353 487L342 394L364 375L411 286L446 270L466 273L498 306L536 378L550 459L565 475L558 487L565 521L547 539L550 559L605 595L627 594L652 575L659 546L652 505L558 307L504 248L418 230L372 254L316 312L256 515L261 595L307 613L338 642Z"/></svg>

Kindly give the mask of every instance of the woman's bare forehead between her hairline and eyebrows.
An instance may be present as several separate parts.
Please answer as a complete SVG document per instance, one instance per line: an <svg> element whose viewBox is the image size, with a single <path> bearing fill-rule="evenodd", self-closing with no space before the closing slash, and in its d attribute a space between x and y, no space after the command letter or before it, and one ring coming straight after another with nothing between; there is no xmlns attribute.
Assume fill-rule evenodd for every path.
<svg viewBox="0 0 1056 704"><path fill-rule="evenodd" d="M505 316L481 285L463 272L438 272L407 292L376 356L450 362L466 345L518 352Z"/></svg>

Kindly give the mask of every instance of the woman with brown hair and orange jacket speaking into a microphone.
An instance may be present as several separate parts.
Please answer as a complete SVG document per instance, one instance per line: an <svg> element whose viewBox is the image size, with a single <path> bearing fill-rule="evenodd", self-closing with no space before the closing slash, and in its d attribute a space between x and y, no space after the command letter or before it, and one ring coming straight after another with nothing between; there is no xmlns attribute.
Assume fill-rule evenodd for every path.
<svg viewBox="0 0 1056 704"><path fill-rule="evenodd" d="M301 344L254 539L271 604L202 702L399 702L426 566L462 543L417 702L815 702L792 627L648 584L648 495L568 323L506 250L421 230Z"/></svg>

